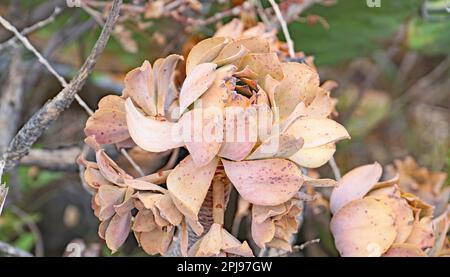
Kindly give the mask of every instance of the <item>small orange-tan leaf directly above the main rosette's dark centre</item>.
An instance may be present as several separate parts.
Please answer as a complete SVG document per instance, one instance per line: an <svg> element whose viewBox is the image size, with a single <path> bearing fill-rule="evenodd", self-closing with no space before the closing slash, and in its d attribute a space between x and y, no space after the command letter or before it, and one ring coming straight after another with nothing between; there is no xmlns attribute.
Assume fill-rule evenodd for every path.
<svg viewBox="0 0 450 277"><path fill-rule="evenodd" d="M275 53L250 53L245 55L238 68L243 69L248 66L252 71L256 72L259 81L263 82L266 75L272 76L274 79L281 81L284 78L283 69L278 57Z"/></svg>

